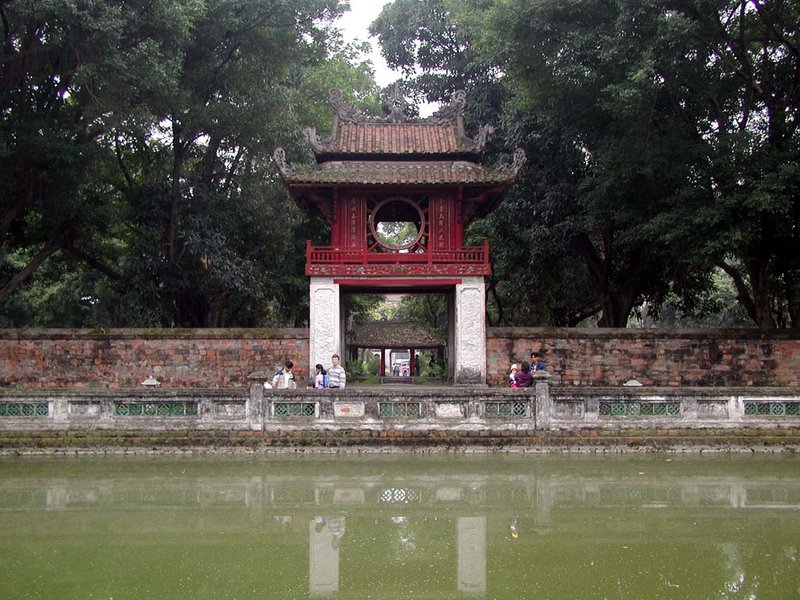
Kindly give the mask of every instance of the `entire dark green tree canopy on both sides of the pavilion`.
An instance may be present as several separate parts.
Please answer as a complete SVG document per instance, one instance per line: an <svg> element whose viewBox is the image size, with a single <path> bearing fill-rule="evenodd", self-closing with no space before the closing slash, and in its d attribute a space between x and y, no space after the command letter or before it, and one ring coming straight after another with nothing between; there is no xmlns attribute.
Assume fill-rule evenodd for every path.
<svg viewBox="0 0 800 600"><path fill-rule="evenodd" d="M301 325L277 145L374 111L340 0L0 0L0 326ZM395 0L373 23L428 101L457 89L486 160L528 163L488 237L509 325L678 320L720 294L800 327L800 3ZM300 298L301 301L297 301Z"/></svg>

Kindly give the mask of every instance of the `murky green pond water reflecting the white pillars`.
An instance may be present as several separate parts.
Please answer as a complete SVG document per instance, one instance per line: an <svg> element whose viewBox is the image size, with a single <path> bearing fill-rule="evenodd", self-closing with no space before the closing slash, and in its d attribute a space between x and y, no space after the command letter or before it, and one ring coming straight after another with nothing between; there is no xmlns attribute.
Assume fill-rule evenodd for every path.
<svg viewBox="0 0 800 600"><path fill-rule="evenodd" d="M0 598L800 598L797 456L0 459Z"/></svg>

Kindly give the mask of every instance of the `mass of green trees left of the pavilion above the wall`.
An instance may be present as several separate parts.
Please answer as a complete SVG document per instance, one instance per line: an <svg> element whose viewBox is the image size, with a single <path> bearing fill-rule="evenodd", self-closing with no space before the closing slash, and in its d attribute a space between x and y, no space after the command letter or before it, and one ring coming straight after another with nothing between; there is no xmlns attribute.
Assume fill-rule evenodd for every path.
<svg viewBox="0 0 800 600"><path fill-rule="evenodd" d="M4 324L302 323L321 225L270 156L320 89L377 101L342 4L0 2Z"/></svg>

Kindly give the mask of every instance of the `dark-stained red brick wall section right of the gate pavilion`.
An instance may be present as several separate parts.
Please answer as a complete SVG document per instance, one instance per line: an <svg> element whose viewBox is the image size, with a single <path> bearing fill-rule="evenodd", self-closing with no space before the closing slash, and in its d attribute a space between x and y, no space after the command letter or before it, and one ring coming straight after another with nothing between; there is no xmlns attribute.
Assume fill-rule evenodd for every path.
<svg viewBox="0 0 800 600"><path fill-rule="evenodd" d="M566 385L800 386L800 332L489 328L486 343L493 385L542 349Z"/></svg>

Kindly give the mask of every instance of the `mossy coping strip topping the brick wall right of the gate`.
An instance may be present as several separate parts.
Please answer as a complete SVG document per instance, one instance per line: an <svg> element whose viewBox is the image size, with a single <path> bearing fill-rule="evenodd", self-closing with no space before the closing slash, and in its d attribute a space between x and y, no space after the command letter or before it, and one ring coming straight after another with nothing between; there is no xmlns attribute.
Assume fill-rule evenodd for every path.
<svg viewBox="0 0 800 600"><path fill-rule="evenodd" d="M689 329L658 328L631 329L622 327L487 327L487 338L506 339L746 339L746 340L800 340L800 331L756 328L739 329Z"/></svg>

